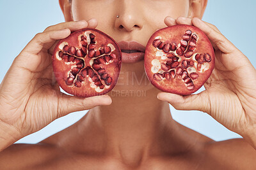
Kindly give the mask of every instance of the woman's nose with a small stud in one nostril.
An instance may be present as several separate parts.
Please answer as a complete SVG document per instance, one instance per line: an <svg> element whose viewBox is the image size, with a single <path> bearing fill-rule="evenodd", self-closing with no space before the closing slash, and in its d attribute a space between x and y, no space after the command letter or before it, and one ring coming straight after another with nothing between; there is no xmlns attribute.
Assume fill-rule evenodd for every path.
<svg viewBox="0 0 256 170"><path fill-rule="evenodd" d="M143 6L140 6L138 0L118 0L119 11L116 20L115 27L120 31L133 31L141 29L143 27Z"/></svg>

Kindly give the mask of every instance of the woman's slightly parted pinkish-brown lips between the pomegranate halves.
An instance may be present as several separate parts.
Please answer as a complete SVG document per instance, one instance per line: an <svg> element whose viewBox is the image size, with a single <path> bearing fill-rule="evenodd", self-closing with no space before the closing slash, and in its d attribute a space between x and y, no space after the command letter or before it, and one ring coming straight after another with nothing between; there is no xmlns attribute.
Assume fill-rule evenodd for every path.
<svg viewBox="0 0 256 170"><path fill-rule="evenodd" d="M125 51L122 52L122 62L132 63L144 59L146 47L141 45L140 43L136 41L120 41L118 42L118 45L121 50ZM130 51L130 53L127 53L127 51Z"/></svg>

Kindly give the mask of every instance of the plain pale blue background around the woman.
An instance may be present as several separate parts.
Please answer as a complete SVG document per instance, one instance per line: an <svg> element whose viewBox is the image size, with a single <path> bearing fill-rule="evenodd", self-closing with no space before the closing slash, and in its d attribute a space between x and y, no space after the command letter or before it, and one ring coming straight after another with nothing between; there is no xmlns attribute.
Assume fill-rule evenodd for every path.
<svg viewBox="0 0 256 170"><path fill-rule="evenodd" d="M204 20L214 24L239 48L256 67L256 1L253 0L209 0ZM13 59L35 36L49 25L64 22L58 1L26 0L0 1L1 55L0 81L11 66ZM237 60L239 62L239 60ZM216 141L239 138L213 118L200 111L177 111L170 106L172 116L180 124L194 129ZM19 143L37 143L52 134L65 129L83 117L86 111L71 113L59 118L44 129L20 139Z"/></svg>

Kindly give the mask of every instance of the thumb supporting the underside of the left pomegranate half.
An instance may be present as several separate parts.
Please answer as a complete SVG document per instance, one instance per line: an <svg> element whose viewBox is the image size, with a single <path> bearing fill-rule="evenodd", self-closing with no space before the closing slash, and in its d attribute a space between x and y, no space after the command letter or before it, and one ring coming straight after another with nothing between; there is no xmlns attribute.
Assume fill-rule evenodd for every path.
<svg viewBox="0 0 256 170"><path fill-rule="evenodd" d="M58 100L58 117L75 111L89 110L95 106L107 106L111 103L111 97L108 95L83 98L63 94Z"/></svg>

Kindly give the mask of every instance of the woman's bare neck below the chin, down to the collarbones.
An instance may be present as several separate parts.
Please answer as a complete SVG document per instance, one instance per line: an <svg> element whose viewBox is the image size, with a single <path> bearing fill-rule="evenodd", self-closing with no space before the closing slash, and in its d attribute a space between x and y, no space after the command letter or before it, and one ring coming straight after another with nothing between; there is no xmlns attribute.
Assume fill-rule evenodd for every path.
<svg viewBox="0 0 256 170"><path fill-rule="evenodd" d="M157 99L157 91L112 99L110 106L93 108L78 122L79 151L115 155L137 164L150 155L183 152L188 146L168 103Z"/></svg>

